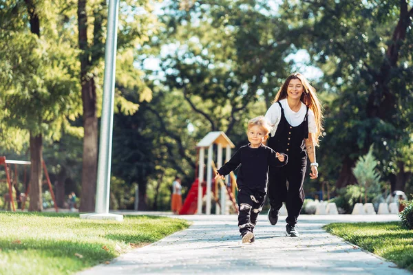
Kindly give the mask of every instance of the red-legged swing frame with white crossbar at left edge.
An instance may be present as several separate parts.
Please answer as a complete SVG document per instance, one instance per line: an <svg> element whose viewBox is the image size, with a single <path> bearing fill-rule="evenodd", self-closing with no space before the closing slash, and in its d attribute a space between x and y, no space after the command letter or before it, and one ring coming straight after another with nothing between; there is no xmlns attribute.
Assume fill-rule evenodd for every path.
<svg viewBox="0 0 413 275"><path fill-rule="evenodd" d="M12 205L12 210L13 212L16 212L16 207L14 206L14 199L13 199L13 192L12 192L12 188L13 185L17 184L17 165L30 165L32 164L31 162L26 162L26 161L22 161L22 160L9 160L6 159L6 157L4 156L0 156L0 165L4 166L5 170L6 170L6 178L7 178L7 183L8 183L8 196L10 198L10 203ZM10 173L9 173L9 169L11 169L12 164L14 164L14 180L13 180L13 184L10 178ZM10 167L9 167L10 166ZM45 173L45 177L47 180L47 185L49 186L49 190L50 190L50 194L52 195L52 199L53 199L53 203L54 203L54 209L56 210L56 212L58 212L58 208L57 208L57 204L56 204L56 199L54 198L54 192L53 192L53 188L52 188L52 184L50 182L50 177L49 177L49 173L47 173L47 168L46 168L46 164L45 161L43 160L42 162L42 166L43 166L43 171ZM21 199L20 197L18 197L17 192L16 192L16 200L22 200L22 208L21 210L24 210L24 206L25 206L25 200L28 198L28 193L30 190L30 184L27 184L26 182L26 170L24 170L24 180L23 183L25 184L25 193L24 193L24 199ZM6 197L6 196L5 196Z"/></svg>

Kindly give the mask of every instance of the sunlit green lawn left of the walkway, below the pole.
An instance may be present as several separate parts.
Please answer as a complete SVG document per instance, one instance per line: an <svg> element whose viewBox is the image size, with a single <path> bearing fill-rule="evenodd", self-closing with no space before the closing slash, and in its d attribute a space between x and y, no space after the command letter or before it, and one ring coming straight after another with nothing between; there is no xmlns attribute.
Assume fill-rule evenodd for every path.
<svg viewBox="0 0 413 275"><path fill-rule="evenodd" d="M188 226L166 217L125 216L118 222L0 212L0 274L73 274Z"/></svg>

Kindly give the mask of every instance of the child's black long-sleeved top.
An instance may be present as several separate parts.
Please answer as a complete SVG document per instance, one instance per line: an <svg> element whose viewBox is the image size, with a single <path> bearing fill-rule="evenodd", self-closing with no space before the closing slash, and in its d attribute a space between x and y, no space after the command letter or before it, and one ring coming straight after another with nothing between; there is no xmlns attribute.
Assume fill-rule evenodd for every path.
<svg viewBox="0 0 413 275"><path fill-rule="evenodd" d="M280 162L275 156L275 151L270 147L261 144L258 148L251 148L248 145L242 146L229 162L218 169L220 175L228 175L231 171L240 166L237 175L238 188L246 187L251 190L266 191L268 183L268 167L281 167L287 164L288 156L284 153L284 162Z"/></svg>

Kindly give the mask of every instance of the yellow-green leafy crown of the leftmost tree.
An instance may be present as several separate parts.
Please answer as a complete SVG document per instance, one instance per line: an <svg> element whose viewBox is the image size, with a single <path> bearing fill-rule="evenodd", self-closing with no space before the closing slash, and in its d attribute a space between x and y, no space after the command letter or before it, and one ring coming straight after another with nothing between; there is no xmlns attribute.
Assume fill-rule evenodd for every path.
<svg viewBox="0 0 413 275"><path fill-rule="evenodd" d="M62 28L54 24L61 19L48 13L43 19L41 37L18 25L19 31L0 31L2 124L59 140L62 124L81 111L78 63L70 43L59 38ZM52 26L55 32L47 30Z"/></svg>

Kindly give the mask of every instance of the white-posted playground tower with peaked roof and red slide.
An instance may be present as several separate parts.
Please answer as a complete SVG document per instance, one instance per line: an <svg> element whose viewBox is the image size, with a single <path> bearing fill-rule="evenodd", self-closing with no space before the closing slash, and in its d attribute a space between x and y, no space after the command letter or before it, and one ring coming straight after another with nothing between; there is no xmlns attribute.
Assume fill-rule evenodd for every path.
<svg viewBox="0 0 413 275"><path fill-rule="evenodd" d="M179 214L202 214L203 198L205 198L206 201L205 214L211 214L212 200L215 201L215 214L228 214L226 206L229 201L235 211L238 211L237 203L235 201L235 175L231 173L226 176L225 181L222 181L221 179L215 181L213 179L217 170L215 163L213 162L214 145L217 150L218 167L222 166L222 149L226 148L225 161L228 162L231 158L231 148L235 148L235 145L229 140L229 137L221 131L210 132L198 142L198 178L193 182ZM206 148L208 148L206 165L207 181L204 180ZM196 174L197 173L195 172L195 175Z"/></svg>

